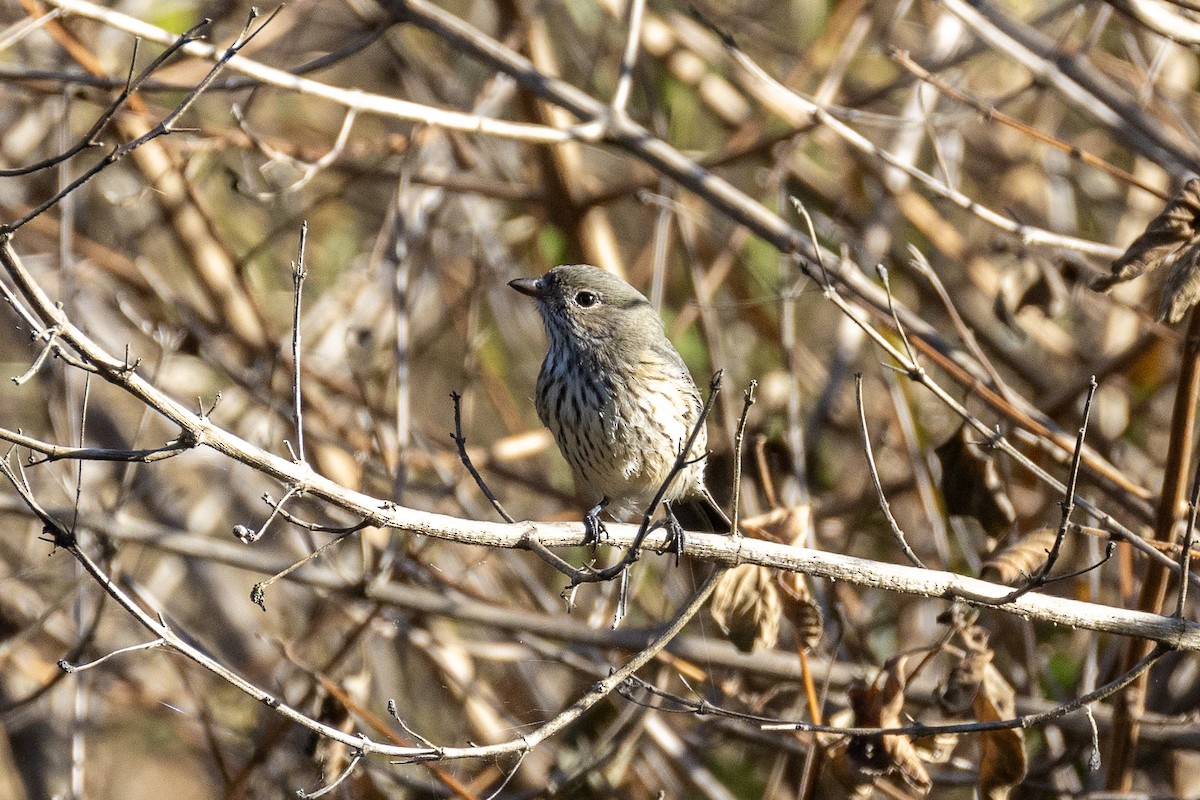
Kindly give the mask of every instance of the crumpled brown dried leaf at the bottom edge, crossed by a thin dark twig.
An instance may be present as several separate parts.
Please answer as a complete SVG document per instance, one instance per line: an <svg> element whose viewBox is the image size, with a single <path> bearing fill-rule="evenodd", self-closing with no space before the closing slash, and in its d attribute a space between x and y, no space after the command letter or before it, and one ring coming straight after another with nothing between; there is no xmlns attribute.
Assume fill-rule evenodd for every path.
<svg viewBox="0 0 1200 800"><path fill-rule="evenodd" d="M905 656L889 661L883 668L882 686L876 678L869 686L857 685L848 690L856 727L899 728L904 724L900 711L904 709L905 699L906 662ZM920 763L920 756L910 736L896 734L851 736L846 746L846 758L850 765L864 775L896 775L910 787L922 793L929 792L931 784L929 772Z"/></svg>

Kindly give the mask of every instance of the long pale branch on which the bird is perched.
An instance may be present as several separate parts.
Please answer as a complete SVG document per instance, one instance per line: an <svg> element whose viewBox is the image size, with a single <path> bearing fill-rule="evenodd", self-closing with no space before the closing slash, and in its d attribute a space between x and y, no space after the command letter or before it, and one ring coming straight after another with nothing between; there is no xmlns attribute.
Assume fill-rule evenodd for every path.
<svg viewBox="0 0 1200 800"><path fill-rule="evenodd" d="M211 447L264 475L275 477L294 492L326 500L379 528L396 528L463 545L534 549L578 547L586 541L583 525L580 523L481 522L397 506L391 500L355 492L323 477L306 463L295 463L257 447L241 437L224 431L209 416L202 416L185 408L138 375L136 369L130 368L127 361L113 357L76 327L62 308L50 300L25 270L8 236L0 237L0 265L12 276L42 320L59 330L60 341L92 365L106 380L125 389L178 425L188 440ZM611 524L607 529L608 542L616 547L629 547L638 533L636 525ZM650 549L665 545L666 534L661 530L647 536L643 542L643 547ZM690 533L685 537L684 553L721 564L758 564L830 581L845 581L910 595L962 600L979 606L994 604L996 600L1012 591L1010 587L952 572L882 564L745 537ZM1200 625L1177 618L1036 593L1019 597L1000 609L1031 620L1151 639L1181 650L1200 650Z"/></svg>

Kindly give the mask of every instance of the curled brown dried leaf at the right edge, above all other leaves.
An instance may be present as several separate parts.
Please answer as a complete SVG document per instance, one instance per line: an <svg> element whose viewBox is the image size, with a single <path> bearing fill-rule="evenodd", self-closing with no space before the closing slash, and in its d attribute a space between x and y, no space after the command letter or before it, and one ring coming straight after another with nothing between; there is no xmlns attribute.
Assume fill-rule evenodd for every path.
<svg viewBox="0 0 1200 800"><path fill-rule="evenodd" d="M1158 318L1177 323L1200 301L1200 179L1193 178L1168 200L1145 233L1112 261L1111 275L1093 281L1092 288L1104 291L1160 266L1169 267L1170 273Z"/></svg>

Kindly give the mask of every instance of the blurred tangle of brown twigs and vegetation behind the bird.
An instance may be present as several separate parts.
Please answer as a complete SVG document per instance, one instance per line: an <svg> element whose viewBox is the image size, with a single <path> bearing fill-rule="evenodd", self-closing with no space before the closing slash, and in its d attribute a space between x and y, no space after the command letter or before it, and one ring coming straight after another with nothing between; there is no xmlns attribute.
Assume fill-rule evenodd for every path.
<svg viewBox="0 0 1200 800"><path fill-rule="evenodd" d="M52 14L54 7L0 5L6 169L78 142L134 59L134 37L121 24ZM619 0L445 7L540 72L601 102L612 97L629 31ZM112 8L172 34L211 18L205 40L218 46L236 37L248 13L248 4L233 0ZM1153 278L1111 295L1087 283L1198 170L1200 62L1194 43L1164 35L1188 38L1196 24L1188 8L1159 0L653 0L628 110L805 230L790 198L798 199L844 269L877 283L874 266L884 265L896 301L941 337L935 348L967 351L970 331L972 363L982 354L995 375L926 366L1060 479L1088 377L1097 375L1088 444L1096 463L1123 482L1085 469L1080 492L1146 533L1177 433L1171 409L1184 337L1154 320ZM1168 30L1150 12L1166 14ZM1034 44L1045 49L1030 60L1022 48ZM137 68L161 52L143 40ZM956 94L919 80L899 53ZM580 122L436 31L394 22L366 0L289 4L244 55L342 90L557 128ZM780 101L746 61L841 127ZM210 67L174 56L106 126L104 148L5 174L4 219L22 217L109 148L157 124ZM232 70L179 125L35 217L14 246L110 353L127 347L140 374L182 403L208 409L220 395L218 425L287 456L284 440L295 441L290 261L307 221L307 456L347 487L493 519L450 437L456 391L473 461L508 509L518 518L580 519L584 503L533 409L540 320L506 283L589 261L622 273L661 308L697 384L724 369L726 391L709 421L710 483L721 498L731 494L742 390L758 381L750 429L764 468L748 457L743 515L804 509L811 524L800 525L798 543L902 560L863 453L853 391L860 372L883 486L925 564L967 575L991 569L995 577L996 554L1015 546L1032 559L1013 567L1009 579L1019 579L1045 549L1044 539L1027 537L1058 524L1060 493L992 456L977 433L960 433L956 414L881 365L887 356L788 255L630 149L538 144L370 112L348 124L336 102ZM994 211L1008 230L846 131ZM911 246L947 300L911 265ZM900 342L886 317L871 319ZM4 330L2 372L23 375L42 345L7 309ZM1018 411L982 399L989 383L1006 387L997 391ZM1066 438L1052 441L1022 423L1034 416ZM62 445L80 444L83 429L86 446L113 449L154 447L178 433L58 360L19 385L0 384L0 426ZM26 456L18 449L12 458ZM28 471L43 505L62 519L77 516L88 547L124 585L154 599L222 663L347 730L374 730L367 715L385 720L394 698L407 724L436 744L504 740L552 716L636 649L640 632L686 602L709 569L643 559L630 618L612 632L610 587L583 587L568 615L562 576L528 553L367 529L275 584L264 614L248 600L251 587L329 539L276 519L253 547L234 540L234 525L254 529L268 518L262 498L278 499L277 482L203 447L152 464L58 461ZM305 498L289 509L325 524L355 522ZM179 800L269 798L316 790L340 774L344 748L284 724L176 656L128 654L64 678L59 658L86 662L143 633L68 557L48 557L40 523L16 494L0 493L0 796L71 796L83 787L91 798L158 798L169 786ZM1073 531L1058 569L1100 561L1104 545L1096 531ZM566 555L580 563L588 554ZM1142 557L1118 547L1100 569L1046 591L1133 608L1145 569ZM827 717L847 706L856 676L874 678L899 652L916 651L919 661L928 651L940 655L907 687L905 718L959 718L935 702L955 663L938 620L946 602L844 583L810 589L824 614L809 663ZM1120 672L1120 639L1000 612L979 624L1019 712L1051 708ZM773 644L744 655L706 616L642 678L733 710L806 718L797 636L784 626ZM1153 673L1146 718L1158 724L1144 728L1132 771L1148 794L1200 792L1190 716L1200 699L1196 668L1178 654ZM1111 715L1108 706L1096 715L1103 753ZM812 756L828 742L812 742L613 697L529 753L499 796L847 796L836 770ZM925 765L932 796L968 798L979 782L978 742L956 744L947 760ZM1012 796L1086 796L1103 786L1103 769L1090 769L1091 729L1078 715L1027 732L1022 748L1027 776ZM515 765L370 760L335 796L486 798ZM851 783L862 796L928 789L895 775L864 781L858 769Z"/></svg>

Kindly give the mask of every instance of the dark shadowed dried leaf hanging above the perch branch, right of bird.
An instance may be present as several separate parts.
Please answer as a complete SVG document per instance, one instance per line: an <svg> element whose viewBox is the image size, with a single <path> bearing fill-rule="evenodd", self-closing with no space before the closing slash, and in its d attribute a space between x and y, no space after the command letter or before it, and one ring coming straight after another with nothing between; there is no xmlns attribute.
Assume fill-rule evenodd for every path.
<svg viewBox="0 0 1200 800"><path fill-rule="evenodd" d="M974 517L989 534L1012 527L1016 510L1004 491L996 464L970 441L964 425L934 451L942 464L942 497L952 516Z"/></svg>

